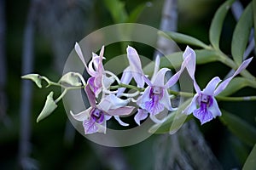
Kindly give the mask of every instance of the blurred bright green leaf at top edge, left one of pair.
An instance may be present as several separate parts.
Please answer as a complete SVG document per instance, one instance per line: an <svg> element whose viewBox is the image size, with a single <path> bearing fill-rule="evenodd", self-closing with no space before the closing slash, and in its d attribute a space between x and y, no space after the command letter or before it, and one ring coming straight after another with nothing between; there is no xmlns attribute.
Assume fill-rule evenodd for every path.
<svg viewBox="0 0 256 170"><path fill-rule="evenodd" d="M123 23L127 20L128 14L125 10L125 3L119 0L105 0L104 3L108 8L114 23Z"/></svg>

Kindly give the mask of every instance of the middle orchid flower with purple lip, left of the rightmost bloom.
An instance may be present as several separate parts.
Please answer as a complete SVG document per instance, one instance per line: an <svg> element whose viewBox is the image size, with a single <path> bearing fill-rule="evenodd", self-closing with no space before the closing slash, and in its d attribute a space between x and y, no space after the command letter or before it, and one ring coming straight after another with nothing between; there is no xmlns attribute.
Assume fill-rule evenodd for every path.
<svg viewBox="0 0 256 170"><path fill-rule="evenodd" d="M162 68L159 71L160 57L156 57L154 74L151 78L151 81L148 79L148 77L143 75L143 79L148 84L148 87L145 88L143 95L140 96L137 100L137 105L142 108L142 110L139 110L137 115L134 117L137 124L140 124L139 122L145 119L148 113L150 114L150 117L154 122L160 123L161 121L158 120L155 115L163 111L164 108L169 111L176 110L172 108L167 88L172 87L177 82L182 71L184 70L186 65L188 65L189 59L190 57L188 56L186 57L186 59L183 60L180 71L177 71L177 73L174 74L165 84L165 75L167 71L170 71L170 69Z"/></svg>

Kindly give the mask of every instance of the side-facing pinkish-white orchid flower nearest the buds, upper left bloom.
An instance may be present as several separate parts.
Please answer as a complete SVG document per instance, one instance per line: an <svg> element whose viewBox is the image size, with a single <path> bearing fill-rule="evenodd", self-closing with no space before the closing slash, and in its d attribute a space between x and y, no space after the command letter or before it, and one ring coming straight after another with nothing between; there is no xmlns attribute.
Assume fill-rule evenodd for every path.
<svg viewBox="0 0 256 170"><path fill-rule="evenodd" d="M82 60L86 71L90 74L90 78L88 79L87 83L90 84L90 88L93 90L94 94L96 94L96 97L98 97L98 94L102 92L102 88L108 88L114 81L113 77L106 76L104 67L102 65L102 59L105 59L103 57L104 46L102 46L99 56L92 53L92 59L88 66L86 65L84 55L78 42L75 44L75 51Z"/></svg>

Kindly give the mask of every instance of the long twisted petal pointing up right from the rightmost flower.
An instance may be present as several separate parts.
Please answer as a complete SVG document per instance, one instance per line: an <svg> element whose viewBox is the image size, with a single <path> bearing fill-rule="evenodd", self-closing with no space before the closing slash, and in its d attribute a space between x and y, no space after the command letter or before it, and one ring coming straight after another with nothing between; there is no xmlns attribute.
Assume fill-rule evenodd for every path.
<svg viewBox="0 0 256 170"><path fill-rule="evenodd" d="M230 81L232 80L232 78L236 77L236 75L238 75L241 71L243 71L244 69L247 68L247 66L250 64L250 62L252 61L253 57L251 57L250 59L246 59L244 60L241 65L238 67L238 69L236 70L236 72L233 74L233 76L229 77L228 79L224 80L223 82L221 82L221 84L219 84L218 88L216 88L216 90L214 91L214 96L218 95L219 93L221 93L230 83Z"/></svg>

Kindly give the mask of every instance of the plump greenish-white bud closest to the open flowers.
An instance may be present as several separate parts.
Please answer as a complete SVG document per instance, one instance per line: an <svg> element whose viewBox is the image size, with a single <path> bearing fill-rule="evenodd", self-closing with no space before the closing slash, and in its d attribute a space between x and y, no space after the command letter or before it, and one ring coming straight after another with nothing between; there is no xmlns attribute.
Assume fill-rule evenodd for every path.
<svg viewBox="0 0 256 170"><path fill-rule="evenodd" d="M79 77L82 76L77 72L67 72L67 74L61 77L59 83L67 83L71 86L82 86Z"/></svg>

